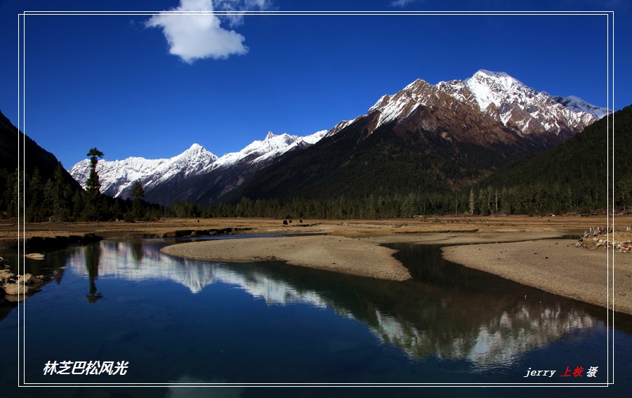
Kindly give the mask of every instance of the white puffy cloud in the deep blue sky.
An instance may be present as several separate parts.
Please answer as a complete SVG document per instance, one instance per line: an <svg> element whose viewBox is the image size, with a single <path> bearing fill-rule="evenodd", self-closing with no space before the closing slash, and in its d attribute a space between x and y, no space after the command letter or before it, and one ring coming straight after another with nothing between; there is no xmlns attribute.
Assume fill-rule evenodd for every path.
<svg viewBox="0 0 632 398"><path fill-rule="evenodd" d="M234 30L220 27L220 16L230 22L231 27L242 25L243 11L264 9L267 0L216 0L218 11L235 11L233 15L213 13L212 0L180 0L180 6L169 11L202 11L191 15L160 13L145 22L147 27L162 27L169 42L169 53L178 55L183 61L193 63L203 58L225 59L229 55L248 52L246 39Z"/></svg>

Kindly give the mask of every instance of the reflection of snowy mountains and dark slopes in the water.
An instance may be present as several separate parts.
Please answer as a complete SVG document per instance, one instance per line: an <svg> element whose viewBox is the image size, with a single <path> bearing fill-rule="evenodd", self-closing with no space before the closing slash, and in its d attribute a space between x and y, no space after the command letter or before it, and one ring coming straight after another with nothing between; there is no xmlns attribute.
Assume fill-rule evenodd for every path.
<svg viewBox="0 0 632 398"><path fill-rule="evenodd" d="M510 366L530 350L598 324L589 305L449 263L438 246L389 245L400 250L396 257L414 275L401 283L284 263L175 258L159 251L164 243L95 245L75 249L68 259L72 273L93 268L98 253L101 278L171 280L194 294L222 282L268 305L329 307L366 324L383 343L393 343L411 359L464 359L475 364L474 371ZM91 273L91 294L93 284Z"/></svg>

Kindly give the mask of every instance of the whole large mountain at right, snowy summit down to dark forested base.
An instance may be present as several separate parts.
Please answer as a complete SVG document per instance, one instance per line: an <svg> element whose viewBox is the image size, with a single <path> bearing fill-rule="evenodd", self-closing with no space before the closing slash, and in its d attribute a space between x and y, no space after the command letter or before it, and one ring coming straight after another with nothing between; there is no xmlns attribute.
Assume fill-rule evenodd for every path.
<svg viewBox="0 0 632 398"><path fill-rule="evenodd" d="M504 72L480 70L435 85L417 79L383 95L367 114L336 124L300 156L263 169L227 199L459 190L595 121Z"/></svg>

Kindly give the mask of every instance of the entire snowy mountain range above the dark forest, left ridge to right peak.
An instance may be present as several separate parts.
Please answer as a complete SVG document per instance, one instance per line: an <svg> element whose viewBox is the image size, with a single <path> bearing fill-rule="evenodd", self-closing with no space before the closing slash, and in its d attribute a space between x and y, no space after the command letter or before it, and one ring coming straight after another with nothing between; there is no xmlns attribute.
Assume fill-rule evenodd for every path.
<svg viewBox="0 0 632 398"><path fill-rule="evenodd" d="M254 173L264 168L268 170L268 166L282 155L305 150L322 138L329 140L338 136L341 131L360 133L353 140L353 145L357 145L376 129L393 123L400 133L416 132L424 142L433 146L433 151L453 158L437 161L454 165L455 159L461 159L459 161L464 162L461 170L494 169L524 154L557 145L610 112L574 96L553 97L544 91L536 91L505 72L481 69L462 81L441 81L432 85L417 79L393 95L383 95L366 115L341 121L329 131L318 131L305 137L270 132L264 140L256 140L239 152L222 157L194 144L170 159L131 157L122 161L99 161L97 171L101 191L114 197L129 197L133 184L139 180L147 201L170 204L173 200L188 200L209 204L223 200L220 198L237 187L241 186L242 190L242 184ZM332 153L346 153L345 149L338 151L339 148L334 147ZM320 145L319 151L324 151L323 148L324 145ZM423 151L431 153L428 148ZM470 160L463 160L468 158L468 153ZM481 157L496 157L497 160L487 162L489 164L473 160ZM320 161L318 159L330 157L321 153L315 161ZM487 166L482 166L483 163ZM312 170L307 164L301 168ZM86 159L69 172L85 187L89 170L90 161ZM270 177L270 184L284 180L292 173L293 170L278 171L274 178ZM463 179L458 177L461 172L446 173L453 175L448 178L449 184L459 186L459 179ZM292 181L295 183L301 178ZM233 194L237 192L239 190ZM249 194L257 197L261 190L249 191Z"/></svg>

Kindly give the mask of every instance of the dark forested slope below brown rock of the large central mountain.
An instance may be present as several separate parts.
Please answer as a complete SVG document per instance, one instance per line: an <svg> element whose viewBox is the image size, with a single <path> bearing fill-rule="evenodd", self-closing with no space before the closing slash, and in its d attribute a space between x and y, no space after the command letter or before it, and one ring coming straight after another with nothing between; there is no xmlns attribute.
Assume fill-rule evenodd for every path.
<svg viewBox="0 0 632 398"><path fill-rule="evenodd" d="M223 199L332 199L371 194L452 192L536 150L515 135L514 142L478 145L447 140L442 128L406 129L395 121L372 133L371 115L312 147L287 155L254 175ZM474 133L473 133L474 134Z"/></svg>

